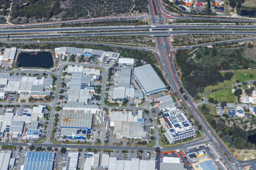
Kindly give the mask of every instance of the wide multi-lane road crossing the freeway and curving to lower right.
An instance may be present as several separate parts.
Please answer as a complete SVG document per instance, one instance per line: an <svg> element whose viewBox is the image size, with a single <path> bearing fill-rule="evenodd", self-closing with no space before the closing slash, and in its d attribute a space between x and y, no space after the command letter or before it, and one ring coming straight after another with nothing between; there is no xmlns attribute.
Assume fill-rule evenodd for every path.
<svg viewBox="0 0 256 170"><path fill-rule="evenodd" d="M159 1L155 0L155 8L158 14L158 19L155 19L155 12L154 11L154 7L152 5L152 3L150 2L150 8L151 8L151 18L152 18L152 24L163 24L164 20L162 18L162 12L160 11L159 8ZM157 22L157 23L155 23ZM234 33L234 32L233 32ZM156 37L155 38L155 42L156 45L159 48L159 54L158 54L158 58L160 61L160 64L162 66L163 72L166 75L166 78L170 84L170 86L172 87L172 90L174 90L175 92L177 92L177 95L179 97L179 99L181 100L181 102L185 105L185 107L188 109L189 114L191 114L195 120L197 120L199 122L199 124L201 124L201 126L203 127L203 131L206 135L207 138L210 139L214 150L216 150L216 152L218 153L218 155L221 156L222 159L225 160L225 162L227 163L228 167L231 169L238 169L239 167L239 163L236 159L233 158L232 154L230 154L228 148L226 148L225 145L222 145L222 142L220 141L220 139L218 139L217 135L214 133L214 131L210 128L210 126L207 124L207 122L204 120L204 118L201 116L201 114L197 111L197 108L195 107L195 105L193 104L193 101L191 100L191 98L189 97L189 95L187 94L187 92L184 92L184 94L180 93L180 88L182 87L179 79L177 78L177 74L176 74L176 67L174 65L174 55L172 54L172 46L171 46L171 40L170 37ZM183 98L183 95L187 96L187 100L185 100ZM224 155L224 153L221 151L221 149L226 153L226 156L228 156L228 160L226 158L226 156ZM252 163L255 160L252 160L250 162L246 162L246 163Z"/></svg>

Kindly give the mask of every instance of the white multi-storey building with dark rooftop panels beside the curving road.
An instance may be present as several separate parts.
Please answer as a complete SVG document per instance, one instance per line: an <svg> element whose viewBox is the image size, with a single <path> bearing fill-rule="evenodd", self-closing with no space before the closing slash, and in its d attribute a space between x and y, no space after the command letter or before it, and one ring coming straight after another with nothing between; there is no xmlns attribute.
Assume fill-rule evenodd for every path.
<svg viewBox="0 0 256 170"><path fill-rule="evenodd" d="M179 109L164 112L163 116L169 128L167 133L164 133L168 142L174 143L182 139L196 136L196 130Z"/></svg>

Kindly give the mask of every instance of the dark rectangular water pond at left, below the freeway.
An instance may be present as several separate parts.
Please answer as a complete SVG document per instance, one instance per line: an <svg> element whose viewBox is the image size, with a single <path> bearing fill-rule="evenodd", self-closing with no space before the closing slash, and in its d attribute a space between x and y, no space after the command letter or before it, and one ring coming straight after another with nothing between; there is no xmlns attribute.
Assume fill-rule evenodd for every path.
<svg viewBox="0 0 256 170"><path fill-rule="evenodd" d="M50 52L22 52L17 59L18 67L40 67L49 69L53 66Z"/></svg>

